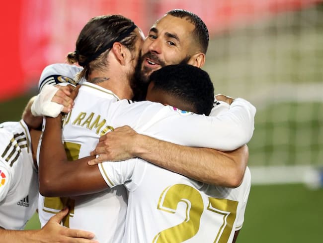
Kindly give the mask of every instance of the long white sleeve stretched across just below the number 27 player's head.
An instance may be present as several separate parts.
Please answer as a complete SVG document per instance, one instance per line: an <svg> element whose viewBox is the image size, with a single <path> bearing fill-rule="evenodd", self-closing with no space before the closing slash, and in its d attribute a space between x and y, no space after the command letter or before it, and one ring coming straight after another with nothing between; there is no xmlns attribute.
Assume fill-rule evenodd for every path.
<svg viewBox="0 0 323 243"><path fill-rule="evenodd" d="M234 150L250 140L254 128L255 108L243 99L236 99L230 110L226 106L226 112L219 109L221 112L214 112L213 117L149 101L100 103L96 104L96 109L101 118L106 119L106 125L113 128L130 125L141 134L194 147ZM85 120L86 117L81 122Z"/></svg>

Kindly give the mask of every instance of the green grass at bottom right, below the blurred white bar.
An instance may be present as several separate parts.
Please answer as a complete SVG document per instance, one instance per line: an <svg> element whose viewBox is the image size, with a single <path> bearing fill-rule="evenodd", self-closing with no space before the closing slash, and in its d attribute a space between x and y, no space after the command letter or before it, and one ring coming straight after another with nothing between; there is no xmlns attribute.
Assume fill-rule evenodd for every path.
<svg viewBox="0 0 323 243"><path fill-rule="evenodd" d="M252 186L240 243L322 242L323 189Z"/></svg>

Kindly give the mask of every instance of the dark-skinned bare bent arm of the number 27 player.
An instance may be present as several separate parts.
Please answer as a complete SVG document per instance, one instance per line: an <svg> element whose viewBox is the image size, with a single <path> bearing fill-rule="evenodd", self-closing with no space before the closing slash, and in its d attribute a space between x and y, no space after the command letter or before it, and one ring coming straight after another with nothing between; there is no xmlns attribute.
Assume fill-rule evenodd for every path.
<svg viewBox="0 0 323 243"><path fill-rule="evenodd" d="M74 196L107 188L98 166L90 158L68 161L62 144L61 115L46 118L39 159L39 191L43 196ZM89 183L90 182L90 183Z"/></svg>

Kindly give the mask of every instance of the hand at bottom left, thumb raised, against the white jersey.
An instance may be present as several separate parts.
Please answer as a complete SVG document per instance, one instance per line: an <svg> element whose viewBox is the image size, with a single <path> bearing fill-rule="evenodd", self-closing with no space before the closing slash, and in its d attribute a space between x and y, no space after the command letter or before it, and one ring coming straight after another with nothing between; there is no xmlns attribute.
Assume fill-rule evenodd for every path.
<svg viewBox="0 0 323 243"><path fill-rule="evenodd" d="M94 237L93 233L72 230L60 225L60 222L69 212L68 208L60 211L53 216L47 224L39 231L40 242L46 243L98 243L91 240Z"/></svg>

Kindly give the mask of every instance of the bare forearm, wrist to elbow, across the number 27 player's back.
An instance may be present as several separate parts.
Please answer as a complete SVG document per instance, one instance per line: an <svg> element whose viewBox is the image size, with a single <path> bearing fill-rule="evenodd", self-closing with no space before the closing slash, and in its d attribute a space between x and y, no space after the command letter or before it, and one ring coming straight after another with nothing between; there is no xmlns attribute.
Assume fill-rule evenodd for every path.
<svg viewBox="0 0 323 243"><path fill-rule="evenodd" d="M135 156L208 184L238 187L248 160L246 145L234 151L194 148L138 134ZM158 149L156 149L158 148Z"/></svg>

